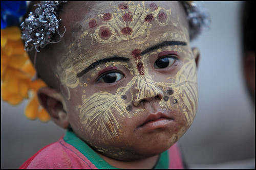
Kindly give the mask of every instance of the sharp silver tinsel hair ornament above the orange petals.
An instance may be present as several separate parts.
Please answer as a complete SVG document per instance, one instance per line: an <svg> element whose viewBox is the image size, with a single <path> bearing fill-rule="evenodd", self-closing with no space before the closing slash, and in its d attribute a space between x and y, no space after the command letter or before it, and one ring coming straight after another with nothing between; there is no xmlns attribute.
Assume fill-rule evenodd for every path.
<svg viewBox="0 0 256 170"><path fill-rule="evenodd" d="M30 12L29 17L20 25L22 29L22 39L25 41L25 51L31 51L34 47L36 52L38 48L44 48L49 43L57 43L65 32L60 35L58 27L56 10L63 1L41 1L34 13ZM67 2L67 1L66 1ZM65 2L63 2L65 3ZM60 40L51 42L52 35L58 33Z"/></svg>

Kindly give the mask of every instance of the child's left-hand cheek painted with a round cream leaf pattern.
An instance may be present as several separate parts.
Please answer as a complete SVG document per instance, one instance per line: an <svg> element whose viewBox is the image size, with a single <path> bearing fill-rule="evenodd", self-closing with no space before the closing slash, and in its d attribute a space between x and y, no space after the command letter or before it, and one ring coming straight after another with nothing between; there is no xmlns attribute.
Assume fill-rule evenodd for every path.
<svg viewBox="0 0 256 170"><path fill-rule="evenodd" d="M121 124L132 110L125 104L130 97L118 92L111 94L101 91L90 98L83 98L79 108L81 129L90 139L98 138L100 142L108 142L118 137Z"/></svg>

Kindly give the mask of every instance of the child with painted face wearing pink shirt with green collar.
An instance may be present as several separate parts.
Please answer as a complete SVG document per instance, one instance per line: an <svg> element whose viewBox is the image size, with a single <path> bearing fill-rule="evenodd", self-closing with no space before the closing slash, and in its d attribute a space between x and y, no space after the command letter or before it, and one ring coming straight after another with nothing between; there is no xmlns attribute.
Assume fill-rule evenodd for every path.
<svg viewBox="0 0 256 170"><path fill-rule="evenodd" d="M58 34L47 39L51 28L42 29L45 36L35 35L46 41L32 46L37 37L28 38L22 24L26 50L32 47L30 59L48 85L37 91L39 101L68 130L20 168L184 168L175 143L197 111L199 51L189 42L202 26L190 25L189 8L62 3L59 26L53 15L44 25Z"/></svg>

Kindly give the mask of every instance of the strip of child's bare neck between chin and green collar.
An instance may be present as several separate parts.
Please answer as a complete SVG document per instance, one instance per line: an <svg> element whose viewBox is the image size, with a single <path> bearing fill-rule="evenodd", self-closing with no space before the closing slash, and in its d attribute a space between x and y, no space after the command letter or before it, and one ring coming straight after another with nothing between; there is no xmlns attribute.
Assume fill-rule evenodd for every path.
<svg viewBox="0 0 256 170"><path fill-rule="evenodd" d="M110 165L117 167L117 168L124 168L124 169L151 169L157 163L159 155L140 159L136 161L120 161L116 159L112 159L110 157L104 156L102 154L97 153L102 159L108 162Z"/></svg>

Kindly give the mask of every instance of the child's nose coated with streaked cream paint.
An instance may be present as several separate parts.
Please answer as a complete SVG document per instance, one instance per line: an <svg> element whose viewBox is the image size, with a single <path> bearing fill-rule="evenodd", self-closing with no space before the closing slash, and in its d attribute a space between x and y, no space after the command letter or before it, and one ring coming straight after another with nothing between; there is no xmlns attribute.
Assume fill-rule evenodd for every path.
<svg viewBox="0 0 256 170"><path fill-rule="evenodd" d="M134 98L133 104L138 106L144 102L151 102L154 99L163 99L162 90L156 85L150 77L139 77L137 83L137 98Z"/></svg>

